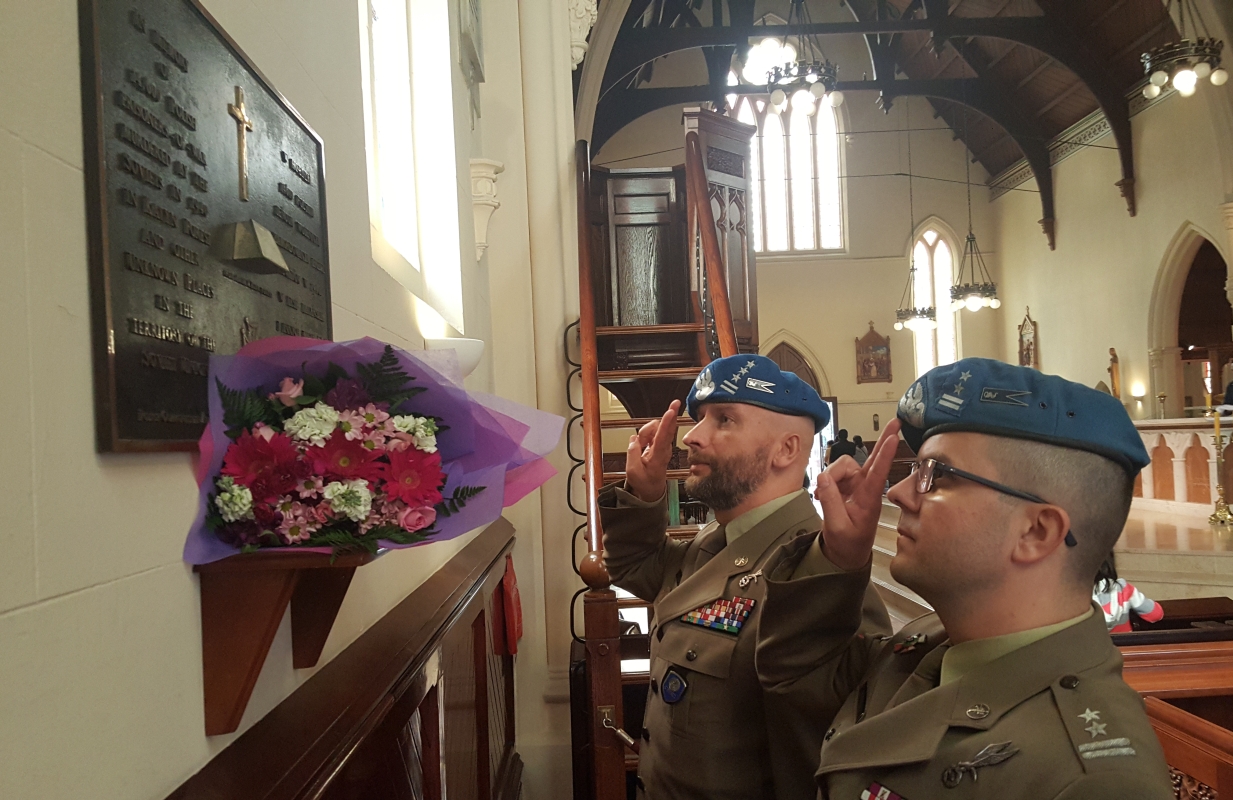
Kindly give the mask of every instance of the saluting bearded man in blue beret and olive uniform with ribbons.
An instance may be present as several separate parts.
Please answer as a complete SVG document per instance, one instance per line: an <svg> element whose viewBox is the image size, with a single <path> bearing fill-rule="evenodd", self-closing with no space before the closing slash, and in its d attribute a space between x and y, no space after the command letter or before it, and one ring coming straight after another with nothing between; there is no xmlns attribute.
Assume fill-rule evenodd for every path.
<svg viewBox="0 0 1233 800"><path fill-rule="evenodd" d="M686 491L710 507L715 521L690 542L665 534L678 401L630 438L624 486L600 496L613 583L655 604L641 796L808 800L816 794L816 720L832 716L843 699L777 701L758 683L753 652L763 563L780 545L821 528L800 487L830 409L813 387L758 355L714 361L687 406L697 424L684 436ZM872 588L863 630L890 632Z"/></svg>

